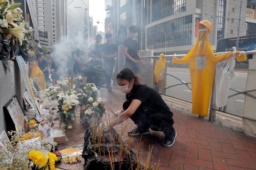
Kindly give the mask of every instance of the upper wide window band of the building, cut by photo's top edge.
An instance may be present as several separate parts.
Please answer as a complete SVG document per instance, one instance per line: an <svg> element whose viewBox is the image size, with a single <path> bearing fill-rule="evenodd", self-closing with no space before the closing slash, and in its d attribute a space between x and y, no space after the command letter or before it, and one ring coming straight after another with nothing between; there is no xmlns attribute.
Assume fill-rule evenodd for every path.
<svg viewBox="0 0 256 170"><path fill-rule="evenodd" d="M152 1L152 22L186 11L186 0Z"/></svg>

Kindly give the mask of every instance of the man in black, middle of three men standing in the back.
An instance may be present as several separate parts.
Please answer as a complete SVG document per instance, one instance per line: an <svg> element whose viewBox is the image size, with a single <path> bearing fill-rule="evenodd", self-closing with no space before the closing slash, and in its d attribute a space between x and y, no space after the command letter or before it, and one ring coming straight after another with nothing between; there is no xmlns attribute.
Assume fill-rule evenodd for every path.
<svg viewBox="0 0 256 170"><path fill-rule="evenodd" d="M112 91L111 78L113 75L114 58L117 57L117 46L112 42L112 34L107 33L105 35L107 42L102 44L101 56L103 59L103 67L107 73L107 89Z"/></svg>

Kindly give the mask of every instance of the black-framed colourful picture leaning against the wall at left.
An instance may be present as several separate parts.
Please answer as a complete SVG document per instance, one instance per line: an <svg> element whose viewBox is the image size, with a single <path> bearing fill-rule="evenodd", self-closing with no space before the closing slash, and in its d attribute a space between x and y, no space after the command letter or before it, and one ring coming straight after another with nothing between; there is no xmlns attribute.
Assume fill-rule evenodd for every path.
<svg viewBox="0 0 256 170"><path fill-rule="evenodd" d="M14 95L3 107L7 124L7 130L17 130L21 135L28 132L27 118L18 102L17 96ZM10 121L10 119L12 121ZM10 122L10 123L9 123Z"/></svg>

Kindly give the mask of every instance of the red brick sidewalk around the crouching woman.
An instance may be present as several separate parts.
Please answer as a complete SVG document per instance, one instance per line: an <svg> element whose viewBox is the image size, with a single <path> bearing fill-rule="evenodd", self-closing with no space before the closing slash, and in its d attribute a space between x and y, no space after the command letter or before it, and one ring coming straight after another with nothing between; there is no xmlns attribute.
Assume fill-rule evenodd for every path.
<svg viewBox="0 0 256 170"><path fill-rule="evenodd" d="M114 111L122 108L125 98L118 87L113 87L112 92L102 88L100 93ZM152 162L158 163L161 159L160 170L178 170L179 164L182 170L256 169L256 137L235 131L241 127L238 121L233 122L216 117L217 121L210 122L208 118L201 119L197 118L197 115L192 115L190 104L168 98L164 100L174 113L174 128L177 132L174 146L165 148L161 145L164 140L162 132L150 131L149 135L142 136L144 152L148 152L149 146L153 146ZM87 127L79 122L79 117L76 118L73 129L65 130L68 141L60 144L58 148L84 144L84 133ZM129 122L128 130L133 129L135 126L133 121L130 119L127 121ZM55 120L53 126L59 126L58 120ZM117 131L121 126L115 127ZM133 142L139 142L139 140L140 137L133 138ZM60 170L82 170L83 165L84 160L75 164L61 162L56 167Z"/></svg>

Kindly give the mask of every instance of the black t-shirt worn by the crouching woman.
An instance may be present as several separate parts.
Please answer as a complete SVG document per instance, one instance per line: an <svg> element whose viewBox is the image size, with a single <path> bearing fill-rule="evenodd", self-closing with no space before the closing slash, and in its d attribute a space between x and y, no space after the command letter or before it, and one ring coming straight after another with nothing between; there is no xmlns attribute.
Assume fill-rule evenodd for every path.
<svg viewBox="0 0 256 170"><path fill-rule="evenodd" d="M162 97L151 87L146 85L137 85L134 86L133 92L134 95L126 95L128 100L140 100L142 102L142 107L149 109L152 113L164 113L170 114L171 117L173 116L173 113L170 111L170 108L164 102Z"/></svg>

